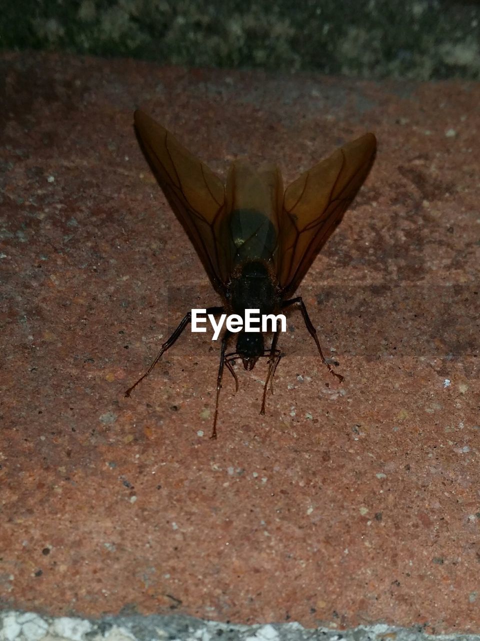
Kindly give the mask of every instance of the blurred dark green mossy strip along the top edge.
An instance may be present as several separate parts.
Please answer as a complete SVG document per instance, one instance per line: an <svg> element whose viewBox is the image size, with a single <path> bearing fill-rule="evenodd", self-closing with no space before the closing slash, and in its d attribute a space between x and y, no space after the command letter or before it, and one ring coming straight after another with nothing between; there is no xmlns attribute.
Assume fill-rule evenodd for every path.
<svg viewBox="0 0 480 641"><path fill-rule="evenodd" d="M2 49L363 78L480 77L480 5L440 0L19 0Z"/></svg>

